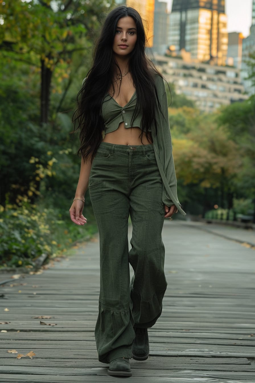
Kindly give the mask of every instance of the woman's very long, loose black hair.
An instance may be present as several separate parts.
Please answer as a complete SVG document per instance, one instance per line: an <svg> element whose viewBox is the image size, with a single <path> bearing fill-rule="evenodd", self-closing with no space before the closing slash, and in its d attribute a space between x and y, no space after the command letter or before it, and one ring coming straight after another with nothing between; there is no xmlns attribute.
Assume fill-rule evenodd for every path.
<svg viewBox="0 0 255 383"><path fill-rule="evenodd" d="M145 54L146 36L140 14L131 7L120 6L110 11L93 52L93 66L89 70L86 81L77 95L78 106L73 114L74 131L80 129L81 145L78 153L84 160L96 154L97 148L102 141L104 122L101 117L102 101L110 86L113 87L113 63L114 55L112 45L120 18L131 16L136 24L137 40L133 51L130 53L129 72L132 75L136 88L135 116L142 111L142 133L148 138L148 131L156 129L155 97L159 105L158 93L153 79L153 71L162 77L153 63ZM117 65L117 63L115 62ZM160 105L159 105L160 108ZM161 108L160 108L161 109Z"/></svg>

